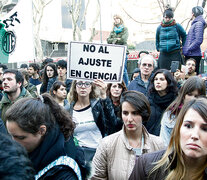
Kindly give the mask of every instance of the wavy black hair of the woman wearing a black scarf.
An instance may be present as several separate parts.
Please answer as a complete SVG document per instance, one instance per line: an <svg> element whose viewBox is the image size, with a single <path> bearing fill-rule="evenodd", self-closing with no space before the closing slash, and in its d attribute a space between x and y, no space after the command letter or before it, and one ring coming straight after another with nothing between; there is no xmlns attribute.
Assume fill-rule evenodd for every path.
<svg viewBox="0 0 207 180"><path fill-rule="evenodd" d="M163 74L165 76L165 79L167 80L167 88L166 92L174 92L177 94L178 89L177 89L177 82L175 81L173 75L167 70L167 69L158 69L152 76L150 80L150 85L149 85L149 92L157 92L155 89L154 85L154 80L157 74Z"/></svg>

